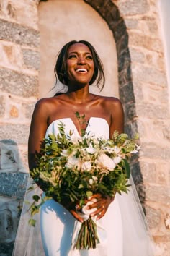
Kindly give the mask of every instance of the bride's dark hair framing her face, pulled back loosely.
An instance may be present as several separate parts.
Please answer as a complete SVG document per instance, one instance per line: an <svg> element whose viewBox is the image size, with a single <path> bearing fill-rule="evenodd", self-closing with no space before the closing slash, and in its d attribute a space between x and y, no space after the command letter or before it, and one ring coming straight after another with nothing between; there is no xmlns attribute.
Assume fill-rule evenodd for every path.
<svg viewBox="0 0 170 256"><path fill-rule="evenodd" d="M68 53L68 48L72 46L75 43L83 43L84 45L88 46L92 57L94 61L94 74L91 78L91 81L89 82L89 85L91 85L94 81L97 80L97 87L100 88L99 85L101 85L100 91L104 87L105 77L104 77L104 71L103 71L103 64L102 61L99 58L99 55L97 54L97 51L94 49L93 46L91 46L91 43L87 42L86 40L72 40L68 43L66 43L65 46L61 49L61 51L58 54L58 59L55 64L55 77L56 77L56 83L57 80L63 83L63 85L68 85L68 74L67 74L67 67L66 67L66 58Z"/></svg>

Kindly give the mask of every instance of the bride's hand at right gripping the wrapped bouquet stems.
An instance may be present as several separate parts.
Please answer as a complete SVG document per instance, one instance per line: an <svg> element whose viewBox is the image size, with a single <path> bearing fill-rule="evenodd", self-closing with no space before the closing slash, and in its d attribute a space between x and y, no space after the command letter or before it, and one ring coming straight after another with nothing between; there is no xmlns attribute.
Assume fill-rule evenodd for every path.
<svg viewBox="0 0 170 256"><path fill-rule="evenodd" d="M109 204L114 200L114 197L109 197L109 196L103 197L100 194L94 194L91 197L89 197L88 201L93 202L94 199L97 201L91 205L88 205L87 209L97 208L97 210L94 210L94 212L91 213L90 216L91 217L97 216L97 220L99 220L107 212Z"/></svg>

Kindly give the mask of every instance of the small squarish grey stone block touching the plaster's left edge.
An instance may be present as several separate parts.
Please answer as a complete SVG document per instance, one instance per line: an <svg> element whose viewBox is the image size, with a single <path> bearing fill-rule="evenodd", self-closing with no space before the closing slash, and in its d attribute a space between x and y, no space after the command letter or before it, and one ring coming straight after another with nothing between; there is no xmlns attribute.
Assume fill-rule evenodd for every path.
<svg viewBox="0 0 170 256"><path fill-rule="evenodd" d="M23 49L23 59L24 64L29 69L40 69L40 53L38 51L32 51L28 49Z"/></svg>

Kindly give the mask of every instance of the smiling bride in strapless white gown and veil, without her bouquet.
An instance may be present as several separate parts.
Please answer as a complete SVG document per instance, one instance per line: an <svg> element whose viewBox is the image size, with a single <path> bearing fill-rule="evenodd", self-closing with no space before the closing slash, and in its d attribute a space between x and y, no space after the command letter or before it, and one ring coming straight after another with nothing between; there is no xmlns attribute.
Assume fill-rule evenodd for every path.
<svg viewBox="0 0 170 256"><path fill-rule="evenodd" d="M115 130L123 132L124 114L120 100L89 93L89 86L94 82L98 87L104 86L102 62L89 42L71 41L63 46L55 65L55 74L68 90L52 98L42 98L35 106L28 143L30 169L36 167L35 157L43 137L51 133L56 135L59 121L65 124L66 133L71 130L76 136L80 136L81 129L106 139L112 137ZM86 116L87 124L80 124L76 112ZM128 195L115 195L115 198L98 194L92 196L89 208L91 216L97 218L100 237L96 249L72 249L73 236L83 218L76 212L76 205L70 210L68 205L48 200L41 208L40 231L38 221L35 228L27 226L27 211L23 208L13 255L153 255L146 218L132 178L130 183L132 186ZM43 191L43 185L38 185Z"/></svg>

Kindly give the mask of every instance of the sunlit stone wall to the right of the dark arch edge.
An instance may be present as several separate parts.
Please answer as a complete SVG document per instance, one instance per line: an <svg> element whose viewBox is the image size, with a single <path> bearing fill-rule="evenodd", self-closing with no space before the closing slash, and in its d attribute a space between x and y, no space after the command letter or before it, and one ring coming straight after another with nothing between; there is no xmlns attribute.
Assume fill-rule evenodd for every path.
<svg viewBox="0 0 170 256"><path fill-rule="evenodd" d="M129 35L146 217L157 255L169 255L170 115L158 1L117 1L117 6Z"/></svg>

